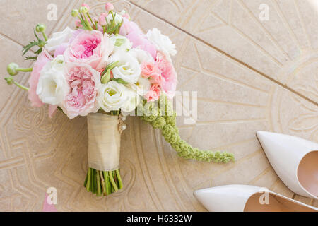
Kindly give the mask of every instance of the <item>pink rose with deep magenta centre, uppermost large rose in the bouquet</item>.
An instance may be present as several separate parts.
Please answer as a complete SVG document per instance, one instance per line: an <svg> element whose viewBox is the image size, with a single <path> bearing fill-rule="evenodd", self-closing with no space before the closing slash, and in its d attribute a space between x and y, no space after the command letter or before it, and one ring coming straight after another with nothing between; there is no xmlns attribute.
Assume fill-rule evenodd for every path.
<svg viewBox="0 0 318 226"><path fill-rule="evenodd" d="M98 30L83 31L71 42L64 57L66 62L89 64L93 69L102 71L113 48L107 34L103 35Z"/></svg>

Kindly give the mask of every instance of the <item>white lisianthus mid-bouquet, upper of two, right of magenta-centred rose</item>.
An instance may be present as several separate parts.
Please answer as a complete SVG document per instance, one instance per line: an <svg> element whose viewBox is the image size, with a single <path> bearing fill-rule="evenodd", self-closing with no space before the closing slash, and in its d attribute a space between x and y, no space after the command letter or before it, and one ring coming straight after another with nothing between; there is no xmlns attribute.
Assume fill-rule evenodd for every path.
<svg viewBox="0 0 318 226"><path fill-rule="evenodd" d="M121 78L127 83L136 83L141 75L139 61L129 52L119 50L110 57L110 63L118 61L112 73L114 78Z"/></svg>

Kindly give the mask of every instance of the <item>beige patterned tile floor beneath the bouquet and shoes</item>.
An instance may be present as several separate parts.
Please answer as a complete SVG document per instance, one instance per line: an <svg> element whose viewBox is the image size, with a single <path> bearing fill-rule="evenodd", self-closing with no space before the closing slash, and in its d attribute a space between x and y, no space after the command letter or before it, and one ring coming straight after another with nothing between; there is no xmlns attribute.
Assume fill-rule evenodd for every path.
<svg viewBox="0 0 318 226"><path fill-rule="evenodd" d="M49 33L73 26L83 1L1 0L0 71L20 57L36 23ZM122 136L125 188L107 198L83 189L86 119L72 121L30 107L26 93L0 80L0 211L39 211L57 188L59 211L204 211L194 189L253 184L304 203L277 177L255 132L269 130L318 142L318 3L316 0L131 0L125 8L143 30L159 28L177 44L178 90L198 91L196 124L178 118L182 137L199 148L235 153L228 165L182 160L158 131L129 118ZM58 20L47 21L55 3ZM89 0L94 13L105 1ZM269 5L269 21L258 18ZM27 84L28 75L19 81ZM144 139L147 138L147 139Z"/></svg>

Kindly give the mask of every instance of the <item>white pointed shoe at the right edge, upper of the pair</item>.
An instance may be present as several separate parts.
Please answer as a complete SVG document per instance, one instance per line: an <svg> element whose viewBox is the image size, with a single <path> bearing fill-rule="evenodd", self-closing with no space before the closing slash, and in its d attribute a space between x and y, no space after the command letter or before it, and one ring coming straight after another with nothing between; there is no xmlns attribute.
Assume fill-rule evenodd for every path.
<svg viewBox="0 0 318 226"><path fill-rule="evenodd" d="M278 177L301 196L318 196L318 144L295 136L258 131L257 138Z"/></svg>

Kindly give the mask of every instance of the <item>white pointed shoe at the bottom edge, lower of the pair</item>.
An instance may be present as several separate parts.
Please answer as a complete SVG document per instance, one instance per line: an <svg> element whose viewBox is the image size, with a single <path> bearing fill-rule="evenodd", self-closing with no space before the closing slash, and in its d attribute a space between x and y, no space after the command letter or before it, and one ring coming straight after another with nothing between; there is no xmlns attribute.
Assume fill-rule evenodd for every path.
<svg viewBox="0 0 318 226"><path fill-rule="evenodd" d="M210 212L316 212L318 208L250 185L225 185L194 191Z"/></svg>

